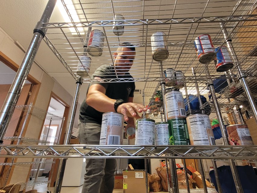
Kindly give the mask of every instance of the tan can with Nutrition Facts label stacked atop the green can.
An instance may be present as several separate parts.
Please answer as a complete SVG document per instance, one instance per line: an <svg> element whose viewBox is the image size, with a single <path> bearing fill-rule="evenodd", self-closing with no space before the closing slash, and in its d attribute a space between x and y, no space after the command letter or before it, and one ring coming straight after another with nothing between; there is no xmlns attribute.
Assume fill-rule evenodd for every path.
<svg viewBox="0 0 257 193"><path fill-rule="evenodd" d="M170 91L164 95L164 103L167 107L167 119L185 118L186 110L183 99L183 94L180 91Z"/></svg>

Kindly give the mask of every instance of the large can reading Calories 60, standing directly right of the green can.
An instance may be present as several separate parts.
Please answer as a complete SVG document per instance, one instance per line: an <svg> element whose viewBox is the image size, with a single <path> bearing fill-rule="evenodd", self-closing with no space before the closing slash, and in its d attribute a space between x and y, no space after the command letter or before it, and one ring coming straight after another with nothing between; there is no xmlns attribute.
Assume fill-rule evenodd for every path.
<svg viewBox="0 0 257 193"><path fill-rule="evenodd" d="M187 128L191 145L215 145L208 115L199 113L187 116Z"/></svg>

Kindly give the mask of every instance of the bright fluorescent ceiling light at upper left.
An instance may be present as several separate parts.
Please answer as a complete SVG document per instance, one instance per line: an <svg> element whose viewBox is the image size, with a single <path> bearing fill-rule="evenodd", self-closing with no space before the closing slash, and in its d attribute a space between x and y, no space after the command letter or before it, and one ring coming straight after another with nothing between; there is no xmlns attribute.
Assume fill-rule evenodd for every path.
<svg viewBox="0 0 257 193"><path fill-rule="evenodd" d="M75 7L74 7L74 5L73 5L73 2L72 2L72 0L64 0L64 2L65 2L65 5L67 6L67 8L68 8L68 10L69 10L69 12L70 12L70 15L71 15L71 17L72 17L72 19L73 19L73 21L74 22L80 22L80 19L79 19L79 16L77 15L77 12L76 12L76 10L75 10ZM62 16L63 16L63 19L64 19L64 21L65 22L71 22L71 20L70 20L70 18L69 18L69 16L68 16L68 14L67 14L67 12L66 12L66 10L65 10L65 8L64 8L64 6L63 6L63 4L62 4L62 2L61 2L61 0L57 0L57 7L59 8L59 10L60 10L60 13L62 14ZM70 24L70 26L72 26L72 24ZM81 24L78 24L78 25L76 25L76 26L82 26ZM77 32L76 32L76 29L75 28L69 28L70 29L70 32L72 32L71 34L72 35L77 35ZM84 32L84 30L83 30L83 28L82 27L77 27L77 30L80 32L80 34L85 34L85 32Z"/></svg>

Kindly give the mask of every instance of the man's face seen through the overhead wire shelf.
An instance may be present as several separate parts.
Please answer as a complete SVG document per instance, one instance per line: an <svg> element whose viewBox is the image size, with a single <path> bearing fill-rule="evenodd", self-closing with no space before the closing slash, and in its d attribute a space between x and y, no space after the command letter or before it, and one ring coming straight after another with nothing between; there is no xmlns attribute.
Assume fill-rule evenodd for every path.
<svg viewBox="0 0 257 193"><path fill-rule="evenodd" d="M117 70L117 74L122 75L128 72L135 59L135 51L132 51L128 47L119 47L114 55L114 66Z"/></svg>

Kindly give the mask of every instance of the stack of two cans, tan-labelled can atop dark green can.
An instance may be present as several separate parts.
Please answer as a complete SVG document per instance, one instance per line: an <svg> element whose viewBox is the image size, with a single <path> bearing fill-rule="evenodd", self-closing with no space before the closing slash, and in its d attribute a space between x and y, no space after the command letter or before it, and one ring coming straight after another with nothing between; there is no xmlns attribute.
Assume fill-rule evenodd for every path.
<svg viewBox="0 0 257 193"><path fill-rule="evenodd" d="M190 145L183 94L180 91L166 93L164 105L167 107L169 144Z"/></svg>

